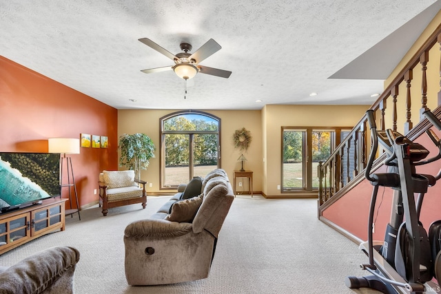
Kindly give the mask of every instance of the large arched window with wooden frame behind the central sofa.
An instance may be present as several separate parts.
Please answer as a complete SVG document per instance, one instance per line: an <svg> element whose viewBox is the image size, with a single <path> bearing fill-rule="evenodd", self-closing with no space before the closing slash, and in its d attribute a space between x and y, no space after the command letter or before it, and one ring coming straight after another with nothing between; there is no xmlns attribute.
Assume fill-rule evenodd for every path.
<svg viewBox="0 0 441 294"><path fill-rule="evenodd" d="M220 167L220 118L174 112L161 119L161 186L176 188Z"/></svg>

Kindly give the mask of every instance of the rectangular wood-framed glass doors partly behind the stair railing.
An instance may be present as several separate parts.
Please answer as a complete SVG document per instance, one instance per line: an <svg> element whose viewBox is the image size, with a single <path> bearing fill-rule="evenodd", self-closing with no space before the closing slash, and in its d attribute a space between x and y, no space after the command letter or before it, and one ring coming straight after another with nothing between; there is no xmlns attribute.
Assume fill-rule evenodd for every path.
<svg viewBox="0 0 441 294"><path fill-rule="evenodd" d="M282 192L318 189L318 162L340 143L341 129L282 127Z"/></svg>

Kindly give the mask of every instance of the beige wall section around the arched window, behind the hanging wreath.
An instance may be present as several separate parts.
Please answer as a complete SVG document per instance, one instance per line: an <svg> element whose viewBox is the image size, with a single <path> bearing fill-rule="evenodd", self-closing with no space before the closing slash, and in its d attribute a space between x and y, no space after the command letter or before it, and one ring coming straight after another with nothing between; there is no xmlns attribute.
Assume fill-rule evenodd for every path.
<svg viewBox="0 0 441 294"><path fill-rule="evenodd" d="M159 119L176 111L178 110L119 110L118 112L118 136L125 133L145 133L152 138L156 145L156 158L152 158L148 169L142 172L142 179L152 183L152 187L147 187L148 192L160 191ZM244 154L247 158L244 163L245 169L254 171L254 190L262 191L262 124L260 110L204 110L204 112L220 118L220 161L230 180L233 181L234 169L240 169L240 162L237 161L238 157L240 154ZM249 130L252 135L252 143L247 151L235 149L232 139L234 131L242 127Z"/></svg>

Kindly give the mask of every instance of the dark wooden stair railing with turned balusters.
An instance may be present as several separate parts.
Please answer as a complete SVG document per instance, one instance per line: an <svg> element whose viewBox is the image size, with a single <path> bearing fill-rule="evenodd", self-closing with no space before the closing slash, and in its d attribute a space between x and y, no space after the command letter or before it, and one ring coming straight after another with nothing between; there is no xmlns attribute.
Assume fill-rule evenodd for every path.
<svg viewBox="0 0 441 294"><path fill-rule="evenodd" d="M420 122L424 120L423 112L429 109L428 102L430 102L429 104L433 109L441 105L441 90L438 95L429 93L428 96L428 85L441 85L440 50L441 24L438 25L438 28L424 42L420 50L413 55L391 84L380 94L377 101L369 107L369 109L374 110L376 120L379 120L378 129L393 129L407 136L411 136L412 132L414 134L421 132ZM433 74L433 70L430 71L432 74L427 74L429 72L429 56L435 56L431 59L440 59L438 65L435 65L438 68L438 74ZM433 62L430 65L433 66ZM421 72L418 73L416 70ZM418 89L418 85L414 85L418 83L414 81L414 75L420 78L420 89ZM404 93L400 93L400 90ZM418 93L416 91L420 91L420 96L416 94ZM428 101L428 99L431 100ZM418 109L412 108L414 105L418 105ZM414 118L412 114L416 114L417 110L419 116ZM433 112L439 118L441 107ZM424 125L426 128L429 127L427 123L424 123ZM331 156L325 162L319 162L319 215L320 210L329 206L331 202L338 200L346 191L349 191L365 178L364 169L370 149L368 138L370 138L369 128L367 127L367 117L364 115L340 145L336 147ZM383 157L383 154L378 154L373 165L373 171L380 166Z"/></svg>

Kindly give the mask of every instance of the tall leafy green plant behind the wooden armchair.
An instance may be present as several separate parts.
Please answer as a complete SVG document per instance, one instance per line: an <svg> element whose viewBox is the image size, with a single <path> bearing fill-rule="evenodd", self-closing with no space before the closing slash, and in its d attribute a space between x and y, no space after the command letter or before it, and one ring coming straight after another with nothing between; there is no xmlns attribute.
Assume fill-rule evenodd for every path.
<svg viewBox="0 0 441 294"><path fill-rule="evenodd" d="M119 137L118 148L121 151L120 166L125 165L135 171L137 180L141 179L141 169L147 169L149 159L154 158L155 146L146 134L122 134Z"/></svg>

